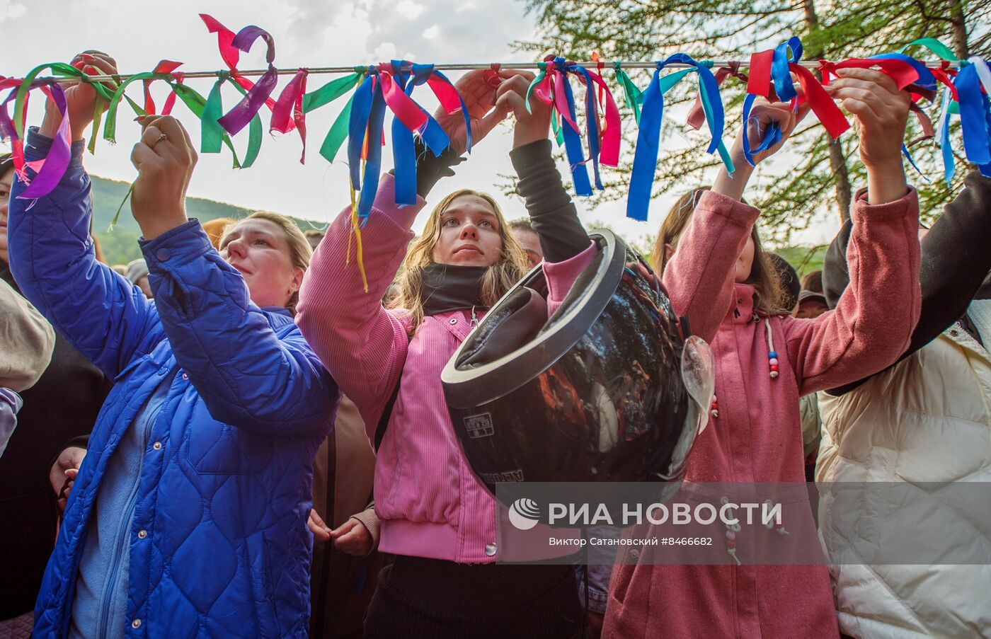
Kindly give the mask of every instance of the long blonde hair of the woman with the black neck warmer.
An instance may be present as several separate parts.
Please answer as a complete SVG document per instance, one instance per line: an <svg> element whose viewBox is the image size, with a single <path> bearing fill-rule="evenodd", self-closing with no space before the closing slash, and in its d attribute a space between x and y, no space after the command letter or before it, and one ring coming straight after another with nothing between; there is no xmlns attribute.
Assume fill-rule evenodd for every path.
<svg viewBox="0 0 991 639"><path fill-rule="evenodd" d="M498 236L502 241L498 260L493 266L489 266L482 279L482 301L492 306L529 270L526 253L509 233L509 226L502 217L502 211L493 196L470 188L454 191L438 202L430 212L426 228L406 252L402 271L395 281L397 290L386 302L386 308L402 308L409 312L412 319L409 324L410 335L423 323L423 301L420 299L423 290L423 267L434 262L434 249L440 241L441 216L451 202L462 195L474 195L485 200L492 207L498 220Z"/></svg>

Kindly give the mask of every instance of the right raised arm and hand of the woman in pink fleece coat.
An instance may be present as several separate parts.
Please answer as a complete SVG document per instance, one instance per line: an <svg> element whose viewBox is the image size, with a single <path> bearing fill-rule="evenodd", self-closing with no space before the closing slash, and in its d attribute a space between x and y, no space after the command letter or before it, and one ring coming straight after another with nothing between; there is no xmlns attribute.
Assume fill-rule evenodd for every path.
<svg viewBox="0 0 991 639"><path fill-rule="evenodd" d="M868 189L854 202L850 284L815 320L783 320L800 394L889 366L919 320L919 201L905 182L901 146L909 96L880 71L844 69L829 87L857 119Z"/></svg>

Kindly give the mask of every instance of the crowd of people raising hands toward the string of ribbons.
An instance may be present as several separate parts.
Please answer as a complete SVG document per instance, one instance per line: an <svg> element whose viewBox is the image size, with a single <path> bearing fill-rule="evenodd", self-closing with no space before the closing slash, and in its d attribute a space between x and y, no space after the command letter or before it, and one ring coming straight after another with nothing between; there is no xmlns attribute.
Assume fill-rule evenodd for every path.
<svg viewBox="0 0 991 639"><path fill-rule="evenodd" d="M72 63L117 72L105 53ZM755 106L736 170L686 192L658 234L645 274L715 356L686 481L991 479L991 179L968 175L921 233L908 94L880 71L837 75L826 90L856 120L867 184L821 272L800 281L765 250L743 197L743 137L777 125L753 157L767 160L808 105ZM497 561L495 500L441 370L527 271L543 269L552 314L599 247L553 159L550 107L526 105L533 75L493 79L457 88L476 144L511 116L526 219L480 184L438 198L414 238L465 161L465 119L441 110L451 146L417 149L414 205L383 176L364 271L345 266L350 207L326 235L274 213L187 219L197 157L169 116L141 119L132 153L144 257L103 264L85 83L65 89L71 160L52 193L22 199L0 161L0 635L991 636L986 518L950 540L983 545L973 566L661 565L626 547L614 568ZM47 157L59 120L50 103L26 160ZM808 499L791 507L817 525ZM898 514L860 516L866 535ZM735 557L734 533L718 543Z"/></svg>

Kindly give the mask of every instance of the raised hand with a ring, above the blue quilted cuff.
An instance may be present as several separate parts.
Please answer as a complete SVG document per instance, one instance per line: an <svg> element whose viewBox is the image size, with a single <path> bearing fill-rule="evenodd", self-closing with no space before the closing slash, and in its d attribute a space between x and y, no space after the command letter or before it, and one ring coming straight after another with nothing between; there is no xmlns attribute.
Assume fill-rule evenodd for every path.
<svg viewBox="0 0 991 639"><path fill-rule="evenodd" d="M185 192L196 151L189 134L171 116L146 116L141 126L141 142L131 152L131 162L138 169L131 213L145 239L154 240L186 222Z"/></svg>

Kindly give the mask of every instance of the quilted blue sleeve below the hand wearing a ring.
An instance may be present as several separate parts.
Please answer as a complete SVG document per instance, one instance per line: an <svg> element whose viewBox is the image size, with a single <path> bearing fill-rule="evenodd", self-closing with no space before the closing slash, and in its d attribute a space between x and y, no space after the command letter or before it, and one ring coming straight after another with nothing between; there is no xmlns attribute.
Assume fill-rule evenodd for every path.
<svg viewBox="0 0 991 639"><path fill-rule="evenodd" d="M278 328L196 220L142 243L175 361L226 424L324 437L340 392L294 324Z"/></svg>

